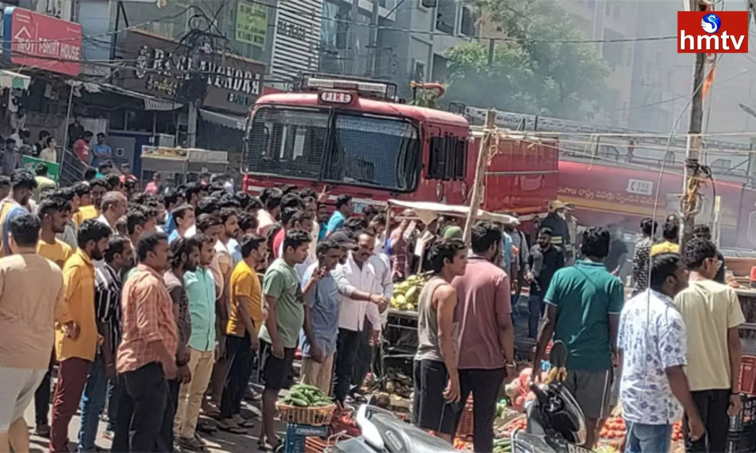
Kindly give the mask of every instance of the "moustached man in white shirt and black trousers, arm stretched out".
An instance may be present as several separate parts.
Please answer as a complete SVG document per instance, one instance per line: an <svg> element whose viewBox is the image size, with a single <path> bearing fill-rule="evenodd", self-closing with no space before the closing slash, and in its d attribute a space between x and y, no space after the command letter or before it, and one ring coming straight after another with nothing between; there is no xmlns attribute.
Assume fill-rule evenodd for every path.
<svg viewBox="0 0 756 453"><path fill-rule="evenodd" d="M371 325L373 340L380 333L380 313L389 307L393 291L391 273L385 272L380 258L373 255L375 237L361 233L355 250L349 251L345 263L333 270L341 295L339 340L336 344L336 367L333 395L343 404L355 374L362 332Z"/></svg>

